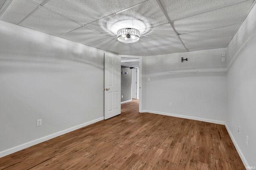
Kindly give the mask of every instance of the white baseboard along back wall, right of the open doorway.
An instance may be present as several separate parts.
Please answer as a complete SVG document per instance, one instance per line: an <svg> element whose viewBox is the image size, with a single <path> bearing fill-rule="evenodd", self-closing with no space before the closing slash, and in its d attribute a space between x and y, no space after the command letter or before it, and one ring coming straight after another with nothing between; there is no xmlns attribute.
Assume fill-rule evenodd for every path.
<svg viewBox="0 0 256 170"><path fill-rule="evenodd" d="M209 122L209 123L216 123L220 125L224 125L224 121L218 121L218 120L212 120L212 119L204 119L200 117L192 117L192 116L186 116L186 115L177 115L177 114L172 114L172 113L165 113L165 112L160 112L160 111L152 111L152 110L146 110L148 113L154 113L158 115L166 115L166 116L172 116L172 117L180 117L184 119L191 119L191 120L198 120L198 121L204 121L204 122Z"/></svg>

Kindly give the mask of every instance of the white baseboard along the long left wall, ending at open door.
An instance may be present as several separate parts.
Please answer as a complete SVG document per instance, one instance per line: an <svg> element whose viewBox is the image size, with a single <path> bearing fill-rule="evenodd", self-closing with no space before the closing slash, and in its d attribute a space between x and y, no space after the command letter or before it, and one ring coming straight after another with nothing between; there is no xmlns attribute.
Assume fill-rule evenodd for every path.
<svg viewBox="0 0 256 170"><path fill-rule="evenodd" d="M64 135L65 133L69 133L69 132L71 132L71 131L80 129L80 128L82 128L82 127L91 125L91 124L93 124L93 123L96 123L96 122L102 121L102 120L104 120L104 117L100 117L100 118L98 118L98 119L94 119L94 120L92 120L92 121L88 121L88 122L86 122L86 123L82 123L82 124L80 124L80 125L77 125L77 126L74 126L74 127L70 127L70 128L65 129L65 130L63 130L63 131L59 131L59 132L53 133L53 134L51 134L51 135L47 135L47 136L45 136L45 137L41 137L41 138L35 139L35 140L33 140L33 141L29 141L29 142L24 143L24 144L22 144L22 145L18 145L18 146L16 146L16 147L12 147L12 148L10 148L10 149L3 150L3 151L0 152L0 158L6 156L6 155L8 155L8 154L12 154L12 153L18 152L18 151L20 151L20 150L22 150L22 149L26 149L26 148L28 148L28 147L32 147L33 145L36 145L36 144L38 144L38 143L42 143L42 142L47 141L47 140L49 140L49 139L53 139L53 138L58 137L58 136L60 136L60 135Z"/></svg>

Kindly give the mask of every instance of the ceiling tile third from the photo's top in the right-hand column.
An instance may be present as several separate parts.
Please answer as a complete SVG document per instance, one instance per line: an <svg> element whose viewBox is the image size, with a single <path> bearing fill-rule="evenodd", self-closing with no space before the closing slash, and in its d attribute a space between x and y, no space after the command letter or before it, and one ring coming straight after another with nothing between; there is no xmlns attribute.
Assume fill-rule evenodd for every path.
<svg viewBox="0 0 256 170"><path fill-rule="evenodd" d="M233 24L215 29L208 29L204 31L197 31L194 33L181 34L180 38L182 39L183 43L188 43L193 41L214 39L218 37L227 37L236 33L238 27L239 24Z"/></svg>

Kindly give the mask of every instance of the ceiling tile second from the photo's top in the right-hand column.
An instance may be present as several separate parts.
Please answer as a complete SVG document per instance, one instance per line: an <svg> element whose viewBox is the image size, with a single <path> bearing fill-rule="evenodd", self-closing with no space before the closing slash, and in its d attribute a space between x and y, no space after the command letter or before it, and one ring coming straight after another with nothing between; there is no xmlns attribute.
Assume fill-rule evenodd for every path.
<svg viewBox="0 0 256 170"><path fill-rule="evenodd" d="M234 6L221 8L204 14L174 21L179 34L202 31L240 23L248 14L254 0L248 0Z"/></svg>

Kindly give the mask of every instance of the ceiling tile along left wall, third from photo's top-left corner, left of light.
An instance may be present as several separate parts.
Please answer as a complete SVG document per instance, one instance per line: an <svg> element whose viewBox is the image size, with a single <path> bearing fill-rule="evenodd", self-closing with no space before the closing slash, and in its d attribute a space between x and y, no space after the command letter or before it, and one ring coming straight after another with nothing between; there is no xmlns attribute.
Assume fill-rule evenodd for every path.
<svg viewBox="0 0 256 170"><path fill-rule="evenodd" d="M70 31L69 33L66 33L60 37L82 44L107 38L104 35L101 35L83 26L73 31Z"/></svg>

